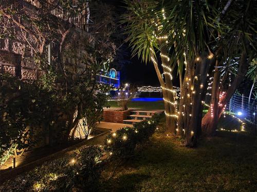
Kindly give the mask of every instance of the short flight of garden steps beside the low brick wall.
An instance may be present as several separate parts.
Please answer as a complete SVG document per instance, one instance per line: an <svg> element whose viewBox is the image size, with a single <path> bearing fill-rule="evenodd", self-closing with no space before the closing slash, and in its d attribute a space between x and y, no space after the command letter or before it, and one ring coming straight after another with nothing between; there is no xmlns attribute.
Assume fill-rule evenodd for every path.
<svg viewBox="0 0 257 192"><path fill-rule="evenodd" d="M148 121L155 114L160 114L162 111L131 111L127 119L123 120L124 124L135 124L140 121Z"/></svg>

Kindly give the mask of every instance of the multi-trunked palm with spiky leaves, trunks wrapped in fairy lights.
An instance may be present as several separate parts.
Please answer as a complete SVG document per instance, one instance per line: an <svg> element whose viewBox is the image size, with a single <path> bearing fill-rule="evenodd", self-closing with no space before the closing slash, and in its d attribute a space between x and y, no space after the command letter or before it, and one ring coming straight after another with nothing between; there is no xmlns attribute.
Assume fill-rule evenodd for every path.
<svg viewBox="0 0 257 192"><path fill-rule="evenodd" d="M165 108L166 120L170 122L171 115L178 117L177 129L172 127L171 134L183 137L185 145L195 146L197 137L201 134L203 101L209 77L214 79L212 100L203 129L208 136L213 135L226 101L245 76L248 57L252 55L249 46L254 45L252 34L255 32L249 14L252 14L256 6L251 1L238 3L231 0L210 3L164 0L125 2L128 12L124 15L123 22L127 24L125 29L133 53L144 61L153 61L163 90L164 103L170 106ZM241 25L245 21L247 22ZM234 46L235 42L239 46ZM157 53L160 53L160 59ZM223 95L221 102L219 95L223 90L217 83L221 74L227 73L221 73L219 67L225 63L231 66L230 61L236 55L240 58L240 62L237 62L238 73L232 83L233 88L228 88L228 94ZM158 64L158 61L162 64ZM160 66L164 79L161 78ZM181 89L177 113L174 95L169 94L169 91L173 91L171 73L174 69L177 69ZM229 67L224 69L228 71Z"/></svg>

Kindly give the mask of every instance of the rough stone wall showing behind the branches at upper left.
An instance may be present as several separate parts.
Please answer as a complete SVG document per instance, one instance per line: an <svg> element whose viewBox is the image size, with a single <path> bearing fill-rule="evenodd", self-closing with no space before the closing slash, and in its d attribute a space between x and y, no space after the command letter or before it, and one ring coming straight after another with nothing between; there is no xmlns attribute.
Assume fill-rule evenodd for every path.
<svg viewBox="0 0 257 192"><path fill-rule="evenodd" d="M31 5L30 3L27 3L22 0L17 0L17 3L20 3L26 11L29 12L37 12L38 10ZM60 23L61 26L65 26L70 28L72 25L67 25L65 20L62 20L58 17L53 17L53 19L56 19L57 23ZM25 21L26 23L26 21ZM29 24L28 24L29 26ZM27 27L28 27L27 26ZM64 33L65 27L61 29L61 33ZM33 38L30 37L31 35L25 31L21 31L19 27L15 28L15 38L13 39L0 39L0 73L10 73L16 77L19 77L23 80L35 80L40 77L40 75L44 72L39 70L39 66L35 65L34 62L34 56L35 56L35 50L38 50L40 45L36 43ZM61 39L61 33L60 38ZM27 37L27 39L30 39L30 43L25 40L24 37ZM36 35L35 35L36 36ZM76 39L78 42L83 41L84 38L89 39L89 44L91 44L94 40L91 39L91 35L85 32L84 30L76 27L74 32L67 38L68 41L72 41ZM58 39L58 38L57 38ZM41 40L39 40L41 41ZM59 50L59 42L56 41L53 43L52 47L52 59L56 59L58 57L58 50ZM44 46L44 53L47 56L47 44ZM78 55L83 53L83 50L75 50ZM13 59L11 59L13 57ZM19 57L19 59L16 59L16 57ZM70 72L79 72L83 71L83 67L80 63L76 62L76 59L72 58L66 58L64 61L66 65L66 69L68 69Z"/></svg>

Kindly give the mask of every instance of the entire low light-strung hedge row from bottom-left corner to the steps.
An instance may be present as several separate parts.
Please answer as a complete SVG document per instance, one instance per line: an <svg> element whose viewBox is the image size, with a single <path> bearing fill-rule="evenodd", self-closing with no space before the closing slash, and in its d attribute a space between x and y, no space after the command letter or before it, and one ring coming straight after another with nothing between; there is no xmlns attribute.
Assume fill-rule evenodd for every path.
<svg viewBox="0 0 257 192"><path fill-rule="evenodd" d="M3 183L0 191L97 191L102 170L132 157L156 130L158 118L107 135L104 147L82 146ZM116 165L117 166L117 165Z"/></svg>

